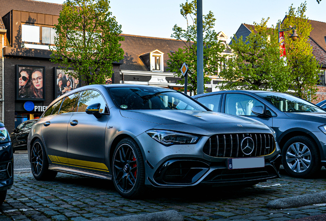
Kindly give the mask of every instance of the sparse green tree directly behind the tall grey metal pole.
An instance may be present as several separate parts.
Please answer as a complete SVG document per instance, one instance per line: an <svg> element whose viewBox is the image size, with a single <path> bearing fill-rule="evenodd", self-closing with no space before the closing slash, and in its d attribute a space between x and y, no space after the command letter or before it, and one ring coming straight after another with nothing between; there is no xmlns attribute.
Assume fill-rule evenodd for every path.
<svg viewBox="0 0 326 221"><path fill-rule="evenodd" d="M169 54L167 61L168 70L175 73L175 76L181 77L178 83L184 84L185 78L182 76L180 68L182 63L186 62L189 67L188 89L196 94L197 89L197 1L193 0L180 5L180 13L187 21L187 29L182 29L175 25L171 37L182 40L185 47ZM215 75L218 70L218 64L221 59L220 53L225 50L225 46L217 41L217 33L213 30L215 18L210 11L203 15L203 73L204 82L210 82L210 75ZM206 89L205 89L206 90Z"/></svg>

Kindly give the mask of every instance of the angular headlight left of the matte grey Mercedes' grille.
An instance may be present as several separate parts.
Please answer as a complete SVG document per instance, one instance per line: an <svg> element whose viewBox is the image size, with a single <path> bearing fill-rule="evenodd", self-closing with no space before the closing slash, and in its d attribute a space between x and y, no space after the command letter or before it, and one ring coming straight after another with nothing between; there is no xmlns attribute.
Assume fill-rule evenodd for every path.
<svg viewBox="0 0 326 221"><path fill-rule="evenodd" d="M148 130L146 132L151 138L166 146L173 144L194 144L199 138L195 135L181 134L169 130Z"/></svg>

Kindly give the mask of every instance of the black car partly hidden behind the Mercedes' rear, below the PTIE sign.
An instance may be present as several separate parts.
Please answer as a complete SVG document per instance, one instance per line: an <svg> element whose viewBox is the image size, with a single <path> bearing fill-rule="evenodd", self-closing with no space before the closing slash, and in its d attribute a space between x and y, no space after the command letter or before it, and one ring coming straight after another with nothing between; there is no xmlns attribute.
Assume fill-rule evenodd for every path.
<svg viewBox="0 0 326 221"><path fill-rule="evenodd" d="M10 134L13 152L16 150L27 150L27 137L37 119L27 120L19 124Z"/></svg>

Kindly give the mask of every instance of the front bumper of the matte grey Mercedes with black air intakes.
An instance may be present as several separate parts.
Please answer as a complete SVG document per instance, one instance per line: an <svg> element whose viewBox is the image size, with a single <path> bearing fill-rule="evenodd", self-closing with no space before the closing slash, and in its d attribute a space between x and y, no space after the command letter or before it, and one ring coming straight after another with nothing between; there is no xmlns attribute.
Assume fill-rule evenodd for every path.
<svg viewBox="0 0 326 221"><path fill-rule="evenodd" d="M278 169L281 157L277 143L272 153L261 157L263 166L229 169L230 158L210 157L203 153L203 146L209 137L201 137L192 145L172 146L161 145L146 133L136 139L144 149L147 186L246 185L280 177Z"/></svg>

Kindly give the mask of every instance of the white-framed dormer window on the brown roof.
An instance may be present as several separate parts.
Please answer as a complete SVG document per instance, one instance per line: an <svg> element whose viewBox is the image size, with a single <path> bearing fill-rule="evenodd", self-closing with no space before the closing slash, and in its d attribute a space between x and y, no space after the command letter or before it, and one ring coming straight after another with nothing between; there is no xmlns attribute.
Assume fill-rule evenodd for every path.
<svg viewBox="0 0 326 221"><path fill-rule="evenodd" d="M164 53L159 50L140 55L148 71L164 72Z"/></svg>

